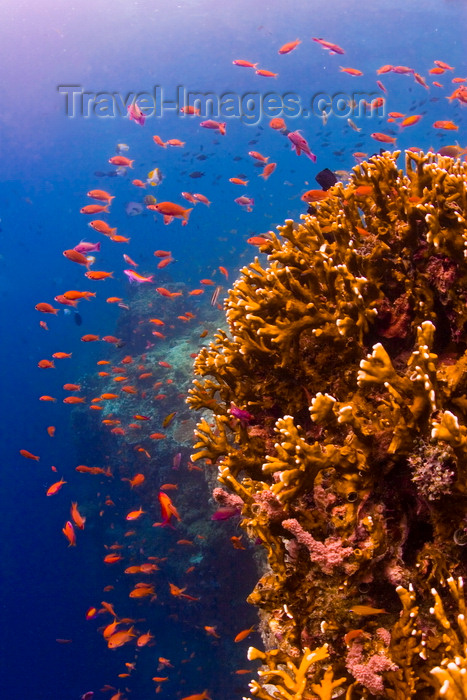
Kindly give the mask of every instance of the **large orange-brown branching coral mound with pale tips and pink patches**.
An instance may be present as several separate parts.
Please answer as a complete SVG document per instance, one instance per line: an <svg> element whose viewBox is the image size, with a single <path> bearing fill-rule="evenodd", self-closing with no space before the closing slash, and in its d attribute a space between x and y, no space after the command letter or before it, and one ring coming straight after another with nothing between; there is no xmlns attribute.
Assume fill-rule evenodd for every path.
<svg viewBox="0 0 467 700"><path fill-rule="evenodd" d="M467 166L399 157L270 232L195 361L192 459L266 554L253 698L467 698Z"/></svg>

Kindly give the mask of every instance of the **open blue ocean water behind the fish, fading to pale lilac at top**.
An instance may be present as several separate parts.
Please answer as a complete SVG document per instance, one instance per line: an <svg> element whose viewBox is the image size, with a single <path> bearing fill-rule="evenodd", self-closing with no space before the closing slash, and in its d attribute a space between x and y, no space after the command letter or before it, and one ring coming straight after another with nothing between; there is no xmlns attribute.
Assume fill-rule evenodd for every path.
<svg viewBox="0 0 467 700"><path fill-rule="evenodd" d="M133 563L131 557L137 557L138 552L141 556L143 552L144 556L167 556L168 560L161 565L164 571L156 582L158 600L134 604L128 599L124 567L118 564L120 568L110 569L102 561L108 551L105 545L123 542L125 513L141 505L115 475L126 473L119 472L125 469L135 473L142 458L130 457L125 450L122 453L125 440L110 438L99 425L100 417L90 417L89 400L97 386L96 362L108 357L119 363L128 352L140 357L150 338L138 335L140 309L128 316L125 309L105 299L112 295L133 303L135 294L143 293L130 289L123 274L127 265L122 253L127 253L139 263L141 274L155 274L161 286L184 285L187 303L183 309L196 314L199 332L205 321L220 324L221 313L213 315L216 310L209 304L211 288L200 298L188 297L187 291L198 288L201 278L211 277L225 290L227 283L219 266L228 269L232 282L239 267L255 255L256 249L247 239L274 228L284 218L303 213L300 195L317 187L314 178L321 169L349 171L355 164L354 152L377 152L384 144L371 139L372 132L394 134L398 148L437 149L456 141L466 146L466 107L446 99L458 86L452 78L467 77L465 3L85 0L72 5L6 0L0 6L0 27L1 696L75 700L93 690L97 697L107 698L112 692L101 695L98 690L108 684L120 688L125 697L142 700L154 693L151 678L167 675L170 680L161 683L162 698L178 699L208 688L213 700L235 700L248 693L244 680L248 675L238 676L234 671L248 667L245 652L249 641L240 647L233 643L233 637L256 622L254 611L244 602L255 583L254 550L233 550L229 537L236 532L235 524L213 523L212 503L206 506L205 516L196 510L198 493L207 499L208 489L202 476L195 481L197 474L187 470L190 450L186 445L180 448L183 473L170 471L163 448L163 464L157 458L158 447L154 447L151 464L154 470L161 470L164 481L179 478L179 491L171 496L176 504L178 500L187 508L190 504L198 534L214 538L217 564L203 553L201 544L198 554L186 554L177 548L178 534L169 529L152 530L151 523L138 524L125 565ZM345 54L331 55L311 37L335 43ZM294 51L278 55L281 45L296 38L302 43ZM232 65L236 59L258 63L278 75L257 76L254 69ZM455 70L430 74L435 60L445 61ZM416 83L411 75L376 75L385 64L414 68L430 89ZM359 69L364 75L350 76L339 66ZM256 108L267 93L293 93L307 108L313 96L321 93L331 97L341 93L349 99L356 91L372 97L382 95L375 83L378 78L387 89L386 114L419 114L420 122L401 130L397 124L387 124L386 114L352 116L361 128L357 133L346 116L335 113L326 124L313 113L285 116L290 130L302 130L317 155L316 164L303 155L298 158L286 136L269 127L270 117L257 114ZM443 87L433 86L433 80ZM252 111L258 118L253 124L239 116L221 119L227 123L223 136L201 128L198 117L182 117L178 109L169 108L162 117L150 117L141 127L127 118L125 110L105 117L91 110L85 116L78 105L73 115L67 114L63 86L120 96L153 94L159 86L167 100L175 99L179 86L217 96L231 93L244 101L251 93ZM459 129L433 129L435 120L452 120ZM162 149L154 144L154 134L163 140L181 139L186 145ZM96 175L115 171L108 159L116 154L118 143L129 146L124 155L134 159L134 170L118 177ZM277 163L266 181L258 177L261 170L248 156L250 150ZM159 187L141 190L131 184L133 178L145 180L154 167L164 175ZM198 177L190 176L196 173ZM249 180L245 192L255 200L253 211L247 212L234 202L244 189L231 184L230 177ZM88 219L80 214L80 208L91 202L86 193L97 188L115 195L111 215L105 218L118 227L119 234L131 238L129 244L108 241L87 227ZM159 201L184 203L181 191L201 192L212 202L209 207L196 205L186 227L177 220L164 226L159 214L146 210L139 216L126 213L127 204L141 202L145 194L153 194ZM114 271L113 280L86 280L81 266L63 257L62 251L81 239L100 240L102 250L94 269ZM153 255L156 249L170 250L176 262L159 271ZM80 302L80 326L73 311L66 314L62 309L57 317L49 318L34 308L39 302L58 306L53 299L66 289L97 293L96 299ZM146 294L144 304L153 299L155 312L170 316L155 292ZM47 322L48 332L39 326L40 320ZM172 352L186 338L183 322L174 317L173 323L166 346ZM85 333L119 336L121 332L126 339L121 349L80 340ZM162 357L164 345L160 348ZM196 350L192 336L185 349L188 373L190 352ZM71 352L72 359L57 360L54 370L38 369L39 360L57 351ZM86 384L86 408L63 405L61 387L65 382ZM186 392L181 369L175 384L180 393ZM57 402L39 402L38 397L44 394L57 396ZM139 404L134 405L135 413L142 411ZM182 405L173 393L165 412L177 410L180 414ZM56 427L53 439L46 432L49 425ZM40 461L24 459L20 449L39 455ZM176 452L174 448L173 454ZM85 456L93 466L110 466L114 479L106 482L105 477L76 474L75 467ZM52 465L56 472L51 471ZM47 498L46 489L62 476L68 481L66 486ZM154 492L147 491L144 496L144 507L152 520L160 517L156 488L160 483L154 483ZM103 505L109 494L117 503L116 511ZM72 500L79 501L87 523L84 532L78 532L78 546L68 548L61 529L69 519ZM103 516L99 510L104 510ZM188 525L182 517L176 526L181 537ZM192 560L192 578L187 575L182 579L182 568L188 568ZM171 577L179 577L173 582L186 585L187 593L194 597L199 593L200 600L170 597L167 584ZM103 588L109 585L114 590L104 593ZM156 638L154 647L138 653L136 669L129 678L118 674L126 670L125 662L134 662L134 644L111 652L98 631L111 617L101 614L94 621L85 619L88 608L99 608L102 600L111 600L119 616L140 620L135 623L138 631L150 629ZM204 626L211 625L217 627L219 640L204 631ZM249 639L261 643L257 635ZM170 659L174 669L157 671L159 657Z"/></svg>

